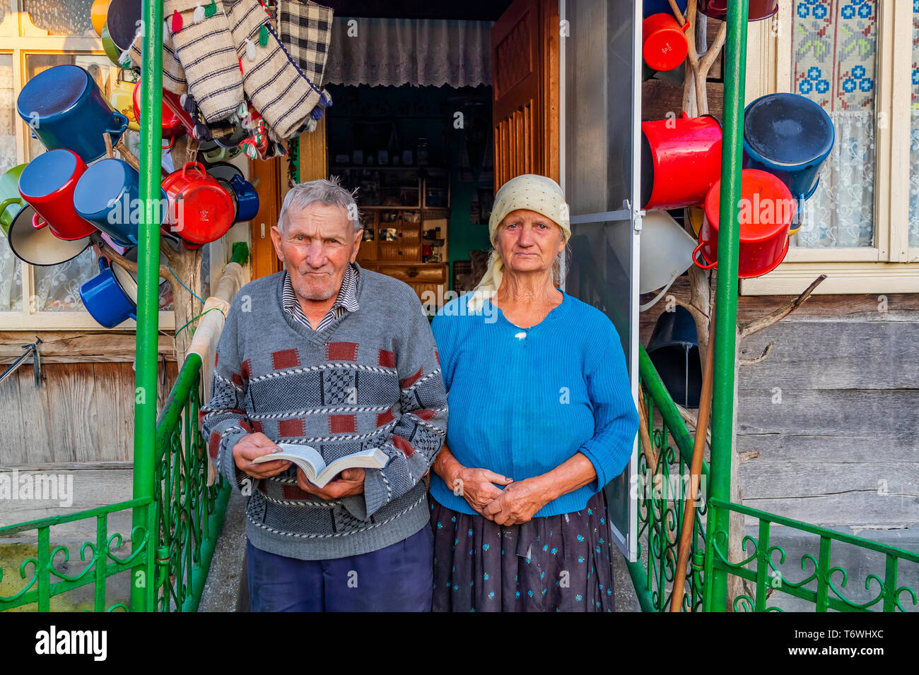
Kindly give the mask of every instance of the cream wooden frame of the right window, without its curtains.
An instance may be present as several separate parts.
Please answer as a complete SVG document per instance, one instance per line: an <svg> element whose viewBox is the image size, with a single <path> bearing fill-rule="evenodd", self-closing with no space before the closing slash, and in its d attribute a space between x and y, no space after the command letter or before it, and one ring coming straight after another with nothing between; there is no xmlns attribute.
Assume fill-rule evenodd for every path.
<svg viewBox="0 0 919 675"><path fill-rule="evenodd" d="M792 0L779 0L772 19L749 24L745 103L793 91ZM741 279L743 295L798 294L817 276L815 293L919 292L919 246L909 246L909 143L913 6L879 0L875 97L875 245L859 248L789 248L786 262L766 276ZM896 59L895 54L909 54ZM897 140L900 140L899 142Z"/></svg>

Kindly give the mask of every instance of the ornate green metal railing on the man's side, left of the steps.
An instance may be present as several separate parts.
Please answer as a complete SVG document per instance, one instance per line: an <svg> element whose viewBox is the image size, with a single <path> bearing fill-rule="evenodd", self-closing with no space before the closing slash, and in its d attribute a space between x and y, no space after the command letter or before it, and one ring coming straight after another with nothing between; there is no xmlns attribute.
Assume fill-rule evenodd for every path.
<svg viewBox="0 0 919 675"><path fill-rule="evenodd" d="M198 426L200 373L200 356L189 354L166 399L156 425L156 459L150 472L155 480L152 497L0 527L0 546L10 542L13 535L35 532L35 553L18 566L21 587L10 594L0 592L0 611L16 608L39 612L198 610L230 497L230 484L222 478L214 485L207 485L208 461ZM133 512L134 524L129 539L124 541L122 534L110 533L108 516L129 510ZM141 514L141 525L137 524L137 513ZM80 546L83 568L72 573L68 569L70 550L68 546L53 543L52 528L93 520L96 539ZM17 537L17 546L28 546L30 551L30 544L23 545ZM130 602L124 592L113 600L108 579L125 572L130 573L130 580L125 579L120 586L130 588ZM0 569L0 582L4 579L4 571ZM7 584L10 581L7 577ZM82 597L85 593L74 593L74 598L81 597L68 598L52 607L51 599L55 596L90 584L95 587L91 589L91 603L87 604ZM141 606L136 604L139 594Z"/></svg>

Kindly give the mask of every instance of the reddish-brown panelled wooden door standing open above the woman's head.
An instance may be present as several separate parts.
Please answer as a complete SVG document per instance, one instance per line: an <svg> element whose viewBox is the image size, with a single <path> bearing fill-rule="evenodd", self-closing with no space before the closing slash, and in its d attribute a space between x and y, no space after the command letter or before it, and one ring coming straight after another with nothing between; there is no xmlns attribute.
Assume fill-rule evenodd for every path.
<svg viewBox="0 0 919 675"><path fill-rule="evenodd" d="M514 0L492 28L494 191L520 174L559 180L559 3Z"/></svg>

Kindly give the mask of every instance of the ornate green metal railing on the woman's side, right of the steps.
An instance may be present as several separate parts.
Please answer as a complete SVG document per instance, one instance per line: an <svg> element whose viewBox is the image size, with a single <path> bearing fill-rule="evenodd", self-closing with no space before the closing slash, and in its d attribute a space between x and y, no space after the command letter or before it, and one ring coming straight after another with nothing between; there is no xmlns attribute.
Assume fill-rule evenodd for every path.
<svg viewBox="0 0 919 675"><path fill-rule="evenodd" d="M660 483L659 490L639 490L639 559L629 563L629 572L641 609L644 612L666 612L670 609L673 590L677 542L682 531L686 480L692 457L693 441L686 431L673 399L648 358L639 348L641 387L645 395L648 419L652 422L652 444L658 455L657 467L649 474L643 455L639 461L640 486ZM674 478L677 478L674 480ZM707 486L709 467L703 463L701 489ZM672 486L680 489L672 489ZM670 490L668 491L668 487ZM719 513L720 512L720 513ZM743 537L743 560L729 562L727 534L706 530L705 523L714 522L723 514L728 520L731 512L742 513L754 520L757 535ZM791 557L788 546L773 543L776 528L786 541L798 541L800 571L789 569ZM791 518L768 513L749 506L734 504L709 496L702 500L692 539L690 565L686 570L686 594L683 612L712 612L727 609L717 604L712 579L716 572L724 575L725 590L728 577L743 579L743 592L737 594L731 607L735 612L782 612L779 603L797 599L803 607L812 605L817 612L910 612L919 609L914 586L919 584L919 553L895 546L879 544L861 537L835 532L825 527L802 523ZM841 565L833 564L833 554L845 553L852 546L859 574L863 575L864 591L852 588L850 575ZM796 556L797 557L797 556ZM787 568L783 568L789 560ZM861 571L864 568L866 571ZM873 570L873 571L872 571ZM795 579L795 577L801 577ZM904 581L908 579L909 583ZM859 577L859 581L862 578ZM876 590L874 590L876 588ZM787 596L782 599L781 595ZM855 597L860 595L862 597Z"/></svg>

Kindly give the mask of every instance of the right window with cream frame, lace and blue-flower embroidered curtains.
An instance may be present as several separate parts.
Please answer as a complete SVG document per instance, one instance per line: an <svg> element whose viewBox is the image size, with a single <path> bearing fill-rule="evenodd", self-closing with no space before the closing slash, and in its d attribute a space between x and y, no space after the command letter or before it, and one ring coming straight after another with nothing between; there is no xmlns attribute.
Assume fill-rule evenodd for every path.
<svg viewBox="0 0 919 675"><path fill-rule="evenodd" d="M919 291L919 2L779 0L749 31L747 103L807 96L835 142L785 263L742 293L799 293L822 273L821 293Z"/></svg>

